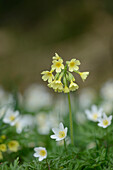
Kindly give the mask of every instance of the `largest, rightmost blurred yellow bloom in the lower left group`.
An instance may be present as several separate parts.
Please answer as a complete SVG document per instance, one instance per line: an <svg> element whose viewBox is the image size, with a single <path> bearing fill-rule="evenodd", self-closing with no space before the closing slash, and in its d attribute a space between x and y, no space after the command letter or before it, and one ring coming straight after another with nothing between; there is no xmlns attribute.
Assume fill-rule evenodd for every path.
<svg viewBox="0 0 113 170"><path fill-rule="evenodd" d="M17 152L19 148L19 143L16 140L12 140L8 143L8 148L12 152Z"/></svg>

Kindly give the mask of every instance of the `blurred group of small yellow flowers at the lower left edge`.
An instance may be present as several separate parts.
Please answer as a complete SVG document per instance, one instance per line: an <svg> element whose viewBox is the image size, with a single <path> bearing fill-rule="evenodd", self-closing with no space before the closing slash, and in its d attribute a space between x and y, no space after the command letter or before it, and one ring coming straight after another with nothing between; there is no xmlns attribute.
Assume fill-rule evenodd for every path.
<svg viewBox="0 0 113 170"><path fill-rule="evenodd" d="M4 142L5 139L6 139L5 135L2 135L0 137L1 142ZM0 160L3 159L3 152L6 152L7 150L11 152L17 152L18 149L19 149L19 143L16 140L12 140L8 142L7 145L5 143L1 143L0 144Z"/></svg>

